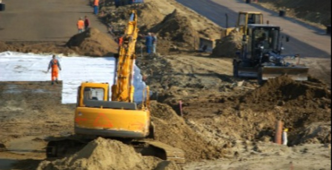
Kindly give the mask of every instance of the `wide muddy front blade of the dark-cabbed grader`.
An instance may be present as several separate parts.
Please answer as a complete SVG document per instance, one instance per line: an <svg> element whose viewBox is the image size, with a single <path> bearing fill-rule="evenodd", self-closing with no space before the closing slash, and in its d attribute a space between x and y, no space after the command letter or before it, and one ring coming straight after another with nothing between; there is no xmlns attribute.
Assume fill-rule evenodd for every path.
<svg viewBox="0 0 332 170"><path fill-rule="evenodd" d="M281 75L288 75L291 79L296 81L306 81L308 80L307 67L271 67L266 66L261 68L261 80L268 80Z"/></svg>

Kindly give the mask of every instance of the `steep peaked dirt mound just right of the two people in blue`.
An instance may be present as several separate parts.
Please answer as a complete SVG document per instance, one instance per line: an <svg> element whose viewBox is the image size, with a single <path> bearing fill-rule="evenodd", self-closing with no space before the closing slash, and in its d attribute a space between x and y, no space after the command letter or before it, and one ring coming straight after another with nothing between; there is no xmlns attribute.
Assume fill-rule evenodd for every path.
<svg viewBox="0 0 332 170"><path fill-rule="evenodd" d="M157 33L163 40L173 41L178 47L194 48L198 44L198 33L191 25L190 19L176 9L151 28L150 32Z"/></svg>

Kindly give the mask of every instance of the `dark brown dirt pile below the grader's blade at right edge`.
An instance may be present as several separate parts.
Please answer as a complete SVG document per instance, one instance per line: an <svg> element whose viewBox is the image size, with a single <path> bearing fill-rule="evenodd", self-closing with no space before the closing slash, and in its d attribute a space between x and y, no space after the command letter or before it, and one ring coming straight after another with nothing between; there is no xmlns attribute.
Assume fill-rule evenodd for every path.
<svg viewBox="0 0 332 170"><path fill-rule="evenodd" d="M240 97L236 107L255 112L272 111L276 119L285 122L285 127L298 130L312 122L331 119L331 91L324 84L296 82L280 76Z"/></svg>

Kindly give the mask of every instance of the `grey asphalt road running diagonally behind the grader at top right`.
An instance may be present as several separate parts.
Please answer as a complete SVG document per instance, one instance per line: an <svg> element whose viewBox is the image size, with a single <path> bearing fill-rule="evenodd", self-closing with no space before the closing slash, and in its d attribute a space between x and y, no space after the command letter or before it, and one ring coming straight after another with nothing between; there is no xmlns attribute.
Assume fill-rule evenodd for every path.
<svg viewBox="0 0 332 170"><path fill-rule="evenodd" d="M176 0L220 25L234 27L238 11L261 11L264 21L280 26L282 33L290 36L290 42L284 43L285 53L299 53L302 57L331 58L331 35L325 30L317 29L289 17L279 17L279 14L262 8L254 3L244 3L244 0Z"/></svg>

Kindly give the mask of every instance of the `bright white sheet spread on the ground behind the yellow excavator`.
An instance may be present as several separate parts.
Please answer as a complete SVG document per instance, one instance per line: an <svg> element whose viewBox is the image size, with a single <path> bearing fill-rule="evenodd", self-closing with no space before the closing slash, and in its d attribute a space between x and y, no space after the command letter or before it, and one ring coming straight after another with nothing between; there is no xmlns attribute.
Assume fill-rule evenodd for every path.
<svg viewBox="0 0 332 170"><path fill-rule="evenodd" d="M59 79L63 81L62 103L76 103L77 88L81 82L109 83L113 85L115 59L113 57L57 57L62 71ZM50 81L51 73L47 72L51 55L1 52L0 53L0 81ZM134 100L142 101L141 70L134 67ZM110 90L111 91L111 90ZM111 96L111 95L110 95Z"/></svg>

